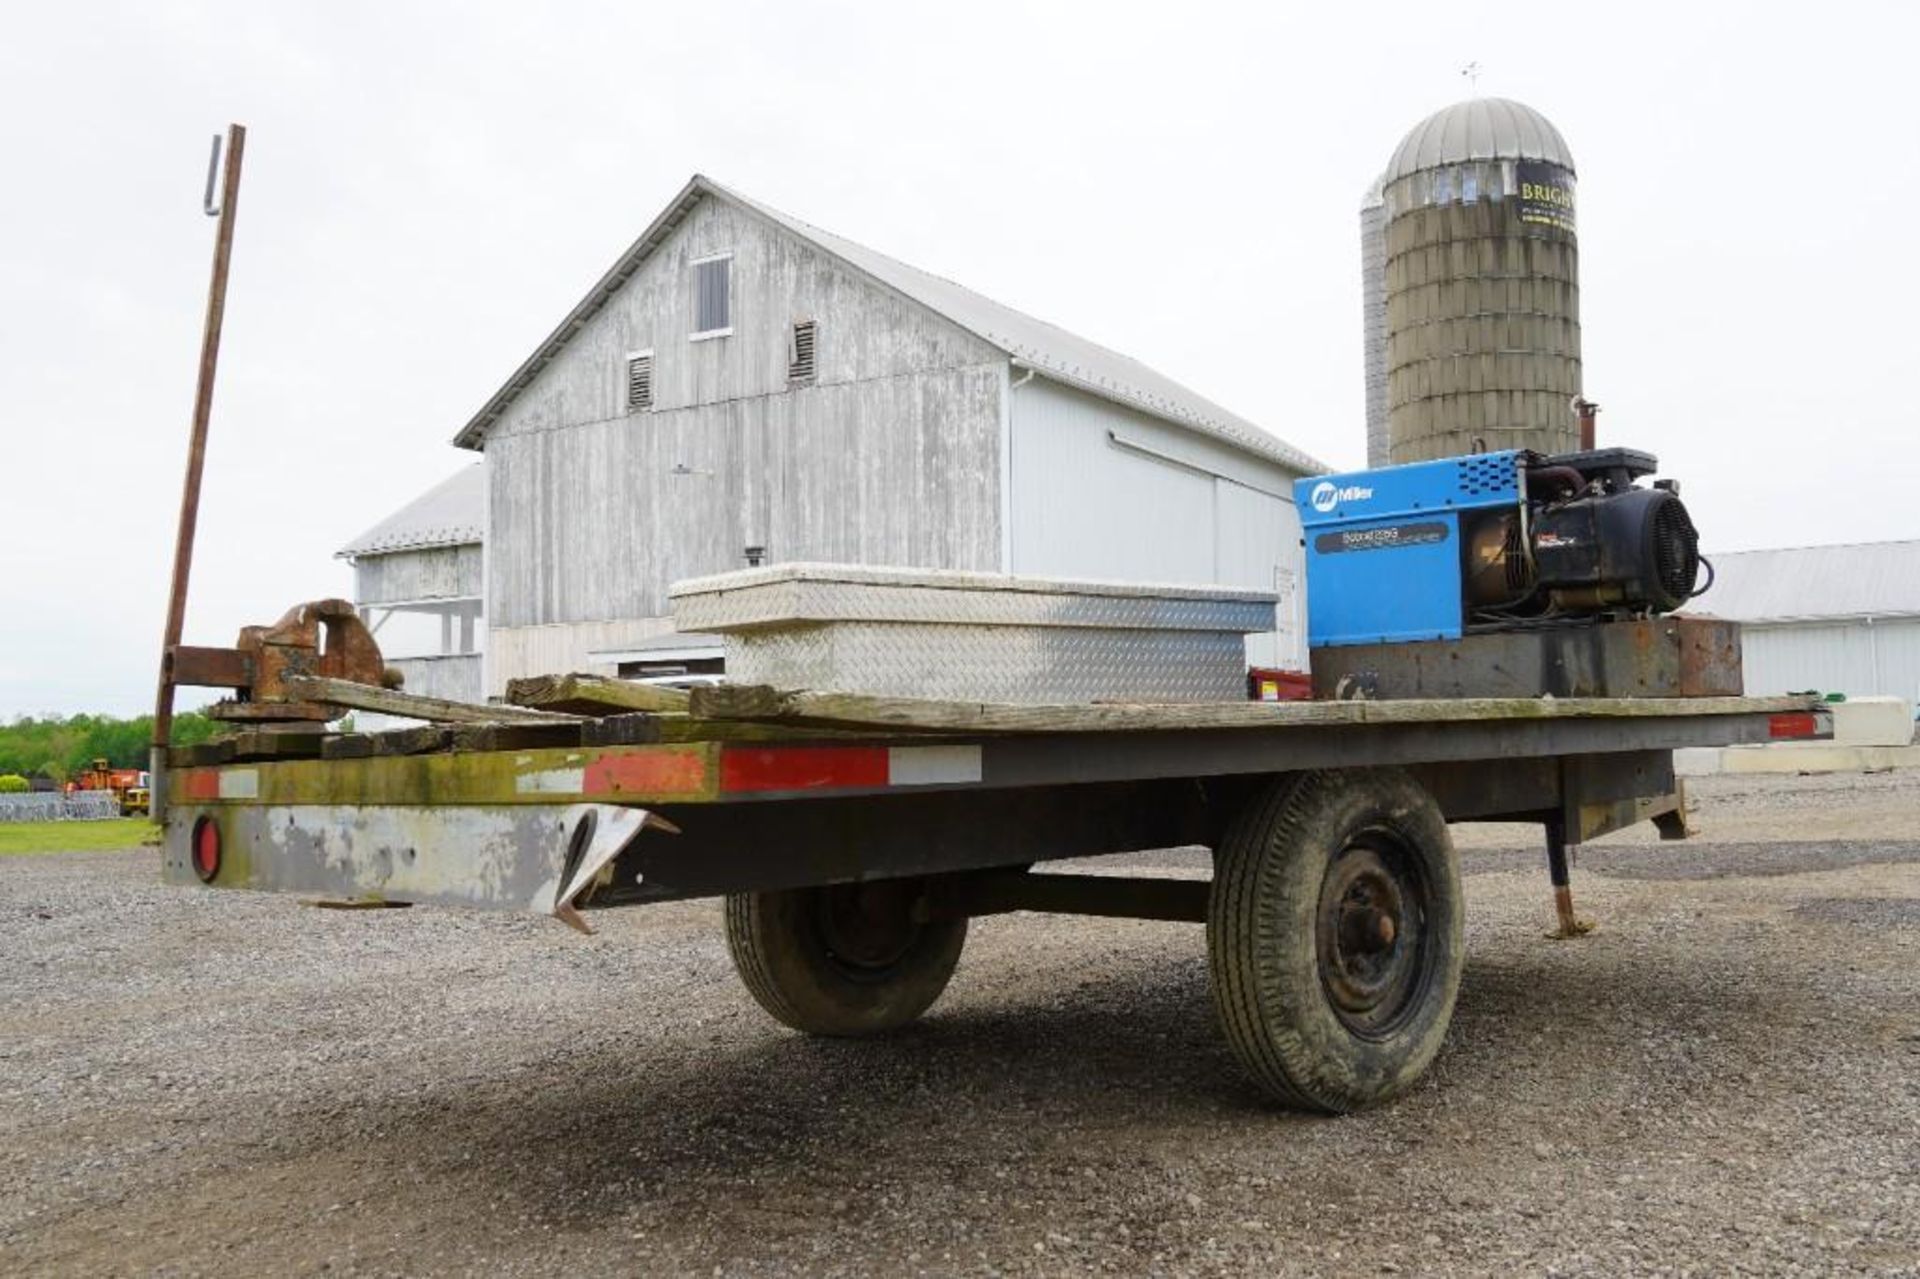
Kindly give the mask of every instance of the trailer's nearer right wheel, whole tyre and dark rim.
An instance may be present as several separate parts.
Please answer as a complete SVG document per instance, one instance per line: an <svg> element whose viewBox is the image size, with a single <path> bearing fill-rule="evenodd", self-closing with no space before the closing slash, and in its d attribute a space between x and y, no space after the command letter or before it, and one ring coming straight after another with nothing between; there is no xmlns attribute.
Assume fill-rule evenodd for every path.
<svg viewBox="0 0 1920 1279"><path fill-rule="evenodd" d="M1344 1114L1419 1079L1465 958L1453 839L1425 787L1398 768L1279 778L1213 862L1213 1008L1254 1081Z"/></svg>

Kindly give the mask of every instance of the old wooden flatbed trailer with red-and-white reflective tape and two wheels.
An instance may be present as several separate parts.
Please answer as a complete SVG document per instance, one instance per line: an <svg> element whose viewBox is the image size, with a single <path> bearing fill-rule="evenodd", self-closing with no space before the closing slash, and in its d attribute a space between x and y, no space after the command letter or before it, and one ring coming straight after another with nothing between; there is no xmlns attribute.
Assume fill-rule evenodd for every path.
<svg viewBox="0 0 1920 1279"><path fill-rule="evenodd" d="M165 878L330 905L582 910L726 897L755 999L806 1033L899 1027L973 916L1204 922L1223 1033L1273 1098L1405 1089L1463 960L1448 822L1567 849L1686 832L1672 751L1832 736L1807 697L935 703L712 688L687 712L242 734L173 753ZM1213 878L1035 872L1204 845Z"/></svg>

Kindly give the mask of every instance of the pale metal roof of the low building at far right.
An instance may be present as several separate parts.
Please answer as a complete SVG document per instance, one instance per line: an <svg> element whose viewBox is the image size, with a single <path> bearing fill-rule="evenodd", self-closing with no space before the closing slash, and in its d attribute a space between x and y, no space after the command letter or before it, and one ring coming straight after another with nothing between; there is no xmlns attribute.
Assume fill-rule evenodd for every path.
<svg viewBox="0 0 1920 1279"><path fill-rule="evenodd" d="M1920 616L1920 542L1795 545L1711 555L1695 611L1736 622Z"/></svg>

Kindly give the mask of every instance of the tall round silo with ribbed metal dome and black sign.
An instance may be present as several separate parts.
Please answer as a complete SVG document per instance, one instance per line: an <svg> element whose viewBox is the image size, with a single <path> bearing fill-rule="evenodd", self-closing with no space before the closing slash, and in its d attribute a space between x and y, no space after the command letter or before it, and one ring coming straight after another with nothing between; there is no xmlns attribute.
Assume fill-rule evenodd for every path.
<svg viewBox="0 0 1920 1279"><path fill-rule="evenodd" d="M1434 111L1367 192L1361 250L1369 463L1576 447L1574 165L1559 129L1507 98Z"/></svg>

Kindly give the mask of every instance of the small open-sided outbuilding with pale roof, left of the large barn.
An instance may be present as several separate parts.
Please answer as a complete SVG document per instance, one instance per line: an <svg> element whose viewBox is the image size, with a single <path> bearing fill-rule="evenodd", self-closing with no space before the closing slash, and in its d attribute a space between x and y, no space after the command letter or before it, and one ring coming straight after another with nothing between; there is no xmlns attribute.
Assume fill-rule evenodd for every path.
<svg viewBox="0 0 1920 1279"><path fill-rule="evenodd" d="M468 465L338 551L409 693L480 701L484 519L486 465Z"/></svg>

